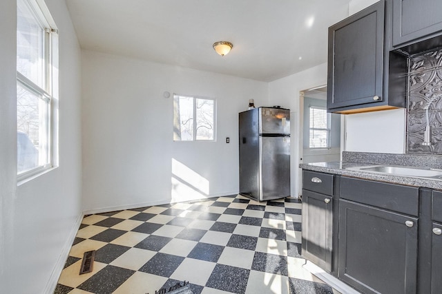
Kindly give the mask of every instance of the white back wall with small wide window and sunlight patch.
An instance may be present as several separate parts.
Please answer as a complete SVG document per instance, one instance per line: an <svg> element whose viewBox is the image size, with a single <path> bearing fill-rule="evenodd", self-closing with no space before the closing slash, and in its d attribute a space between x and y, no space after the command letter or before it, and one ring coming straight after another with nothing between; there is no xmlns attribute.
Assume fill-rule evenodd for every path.
<svg viewBox="0 0 442 294"><path fill-rule="evenodd" d="M238 112L267 83L88 51L82 78L84 210L238 193ZM173 142L165 91L216 98L218 140Z"/></svg>

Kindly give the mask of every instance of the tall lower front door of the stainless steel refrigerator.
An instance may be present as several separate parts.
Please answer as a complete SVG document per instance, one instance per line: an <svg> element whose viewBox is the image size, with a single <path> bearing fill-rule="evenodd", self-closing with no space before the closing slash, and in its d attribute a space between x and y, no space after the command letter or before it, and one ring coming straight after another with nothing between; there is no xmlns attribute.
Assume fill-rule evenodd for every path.
<svg viewBox="0 0 442 294"><path fill-rule="evenodd" d="M290 196L290 138L260 136L260 201Z"/></svg>

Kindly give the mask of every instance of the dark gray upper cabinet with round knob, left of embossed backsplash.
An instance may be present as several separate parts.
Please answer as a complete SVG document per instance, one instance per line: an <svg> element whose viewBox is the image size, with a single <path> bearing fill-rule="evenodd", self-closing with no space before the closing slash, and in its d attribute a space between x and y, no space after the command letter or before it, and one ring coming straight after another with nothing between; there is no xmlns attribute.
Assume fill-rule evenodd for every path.
<svg viewBox="0 0 442 294"><path fill-rule="evenodd" d="M405 107L407 61L391 47L391 0L329 28L327 109L352 114Z"/></svg>

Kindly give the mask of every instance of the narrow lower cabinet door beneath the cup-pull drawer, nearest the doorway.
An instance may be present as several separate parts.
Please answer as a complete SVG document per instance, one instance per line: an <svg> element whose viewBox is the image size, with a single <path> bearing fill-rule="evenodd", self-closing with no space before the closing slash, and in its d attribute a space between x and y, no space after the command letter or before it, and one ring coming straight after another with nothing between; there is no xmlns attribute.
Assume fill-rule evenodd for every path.
<svg viewBox="0 0 442 294"><path fill-rule="evenodd" d="M332 196L302 190L302 255L332 271Z"/></svg>

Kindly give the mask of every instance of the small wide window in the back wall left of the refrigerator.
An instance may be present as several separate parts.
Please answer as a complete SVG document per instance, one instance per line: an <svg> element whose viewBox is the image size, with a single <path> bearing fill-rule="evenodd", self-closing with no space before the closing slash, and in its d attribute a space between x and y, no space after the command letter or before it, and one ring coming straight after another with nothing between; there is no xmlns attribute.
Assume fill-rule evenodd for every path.
<svg viewBox="0 0 442 294"><path fill-rule="evenodd" d="M173 140L215 140L215 100L173 95Z"/></svg>

